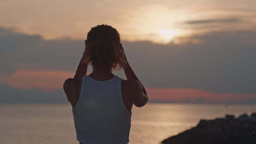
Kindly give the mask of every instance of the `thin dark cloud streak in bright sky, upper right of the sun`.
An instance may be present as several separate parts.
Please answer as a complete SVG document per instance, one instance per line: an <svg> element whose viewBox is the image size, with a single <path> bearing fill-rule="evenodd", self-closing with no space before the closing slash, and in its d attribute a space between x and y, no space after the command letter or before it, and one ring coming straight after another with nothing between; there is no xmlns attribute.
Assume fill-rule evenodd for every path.
<svg viewBox="0 0 256 144"><path fill-rule="evenodd" d="M242 20L239 18L220 18L220 19L201 19L185 21L183 24L198 25L198 24L210 24L210 23L237 23Z"/></svg>

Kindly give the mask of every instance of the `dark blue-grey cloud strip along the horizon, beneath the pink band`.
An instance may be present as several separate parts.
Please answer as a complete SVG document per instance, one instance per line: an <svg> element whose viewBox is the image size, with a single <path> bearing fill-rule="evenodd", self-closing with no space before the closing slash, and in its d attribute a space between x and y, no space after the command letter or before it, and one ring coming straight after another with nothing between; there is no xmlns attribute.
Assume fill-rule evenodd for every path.
<svg viewBox="0 0 256 144"><path fill-rule="evenodd" d="M68 103L62 88L51 91L40 90L37 88L18 89L5 83L0 83L0 104L13 103ZM225 104L255 104L256 97L251 99L226 99L218 98L211 101L207 98L184 97L179 100L170 99L149 99L150 103L225 103Z"/></svg>

